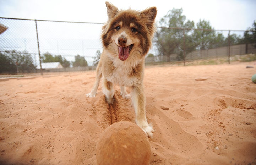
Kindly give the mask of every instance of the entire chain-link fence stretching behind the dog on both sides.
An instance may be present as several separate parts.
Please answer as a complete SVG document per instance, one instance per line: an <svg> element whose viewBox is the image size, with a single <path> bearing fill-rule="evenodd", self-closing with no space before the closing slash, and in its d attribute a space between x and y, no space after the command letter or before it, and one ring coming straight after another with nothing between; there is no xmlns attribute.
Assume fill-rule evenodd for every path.
<svg viewBox="0 0 256 165"><path fill-rule="evenodd" d="M102 52L101 27L102 23L0 18L0 76L95 69ZM239 44L233 32L245 33L158 27L146 65L256 60L255 43Z"/></svg>

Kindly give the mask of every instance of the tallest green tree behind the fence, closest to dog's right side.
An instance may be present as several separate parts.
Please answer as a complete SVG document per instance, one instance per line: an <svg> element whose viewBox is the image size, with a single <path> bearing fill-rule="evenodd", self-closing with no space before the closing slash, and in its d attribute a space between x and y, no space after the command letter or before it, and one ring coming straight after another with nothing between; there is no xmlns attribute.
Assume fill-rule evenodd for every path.
<svg viewBox="0 0 256 165"><path fill-rule="evenodd" d="M156 46L159 55L170 57L170 55L176 54L178 59L183 59L183 51L188 53L194 49L189 44L191 41L191 30L185 31L181 29L193 28L194 22L186 21L186 16L182 15L182 11L182 9L172 9L160 19L160 26L166 28L161 28L156 32ZM186 50L183 50L184 37L186 38Z"/></svg>

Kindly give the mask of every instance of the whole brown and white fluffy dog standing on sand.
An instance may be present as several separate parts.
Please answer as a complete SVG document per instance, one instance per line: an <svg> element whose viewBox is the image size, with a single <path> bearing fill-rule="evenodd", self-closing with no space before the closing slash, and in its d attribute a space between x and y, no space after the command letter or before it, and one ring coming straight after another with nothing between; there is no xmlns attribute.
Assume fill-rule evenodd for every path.
<svg viewBox="0 0 256 165"><path fill-rule="evenodd" d="M103 25L101 34L103 52L96 68L96 81L86 96L96 95L101 78L102 91L109 104L114 101L113 84L120 86L120 95L125 99L130 98L126 87L131 87L136 123L152 137L154 130L146 119L143 77L145 56L152 46L156 31L154 22L157 8L119 10L109 2L106 2L106 7L108 21Z"/></svg>

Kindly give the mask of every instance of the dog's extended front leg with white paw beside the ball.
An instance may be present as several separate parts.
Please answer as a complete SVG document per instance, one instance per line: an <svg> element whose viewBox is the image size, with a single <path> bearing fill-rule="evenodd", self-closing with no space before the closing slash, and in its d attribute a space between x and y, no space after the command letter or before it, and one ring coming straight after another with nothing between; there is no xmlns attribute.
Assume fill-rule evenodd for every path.
<svg viewBox="0 0 256 165"><path fill-rule="evenodd" d="M136 114L136 123L149 136L153 136L153 128L148 124L145 110L145 94L142 85L132 87L132 104Z"/></svg>

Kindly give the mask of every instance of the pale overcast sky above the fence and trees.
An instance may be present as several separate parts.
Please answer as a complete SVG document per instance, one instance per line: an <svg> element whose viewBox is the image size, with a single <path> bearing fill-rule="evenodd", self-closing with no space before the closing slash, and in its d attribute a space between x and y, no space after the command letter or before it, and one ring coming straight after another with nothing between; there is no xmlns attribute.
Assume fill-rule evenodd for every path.
<svg viewBox="0 0 256 165"><path fill-rule="evenodd" d="M173 8L187 19L207 20L216 30L246 30L256 20L256 0L109 0L119 9L156 6L157 22ZM105 0L0 0L0 17L103 23Z"/></svg>

